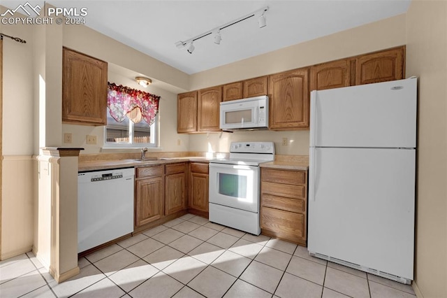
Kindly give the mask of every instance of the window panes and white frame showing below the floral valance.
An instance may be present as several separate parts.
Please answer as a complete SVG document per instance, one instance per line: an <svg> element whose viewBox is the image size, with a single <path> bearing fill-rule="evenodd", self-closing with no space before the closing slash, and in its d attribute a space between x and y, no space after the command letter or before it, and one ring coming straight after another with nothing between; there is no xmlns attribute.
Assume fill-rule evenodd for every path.
<svg viewBox="0 0 447 298"><path fill-rule="evenodd" d="M157 119L149 126L144 120L133 123L129 118L117 122L107 108L107 126L104 129L105 147L156 147Z"/></svg>

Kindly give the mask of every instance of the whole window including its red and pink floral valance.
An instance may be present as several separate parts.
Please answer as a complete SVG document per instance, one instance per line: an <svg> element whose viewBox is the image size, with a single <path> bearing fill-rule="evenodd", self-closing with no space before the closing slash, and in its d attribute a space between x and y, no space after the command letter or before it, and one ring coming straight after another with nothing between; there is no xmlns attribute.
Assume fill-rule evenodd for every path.
<svg viewBox="0 0 447 298"><path fill-rule="evenodd" d="M104 146L156 147L159 99L154 94L108 83Z"/></svg>

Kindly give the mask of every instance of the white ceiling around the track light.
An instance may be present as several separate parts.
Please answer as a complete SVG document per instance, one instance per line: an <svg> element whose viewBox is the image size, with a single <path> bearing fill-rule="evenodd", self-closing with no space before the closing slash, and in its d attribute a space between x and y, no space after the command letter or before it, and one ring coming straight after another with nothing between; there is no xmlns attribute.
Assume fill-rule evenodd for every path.
<svg viewBox="0 0 447 298"><path fill-rule="evenodd" d="M265 52L405 13L411 0L266 0L266 1L47 1L57 7L87 8L88 27L121 41L185 73L197 73ZM25 1L2 1L15 8ZM31 4L43 1L32 1ZM251 17L194 43L185 41L221 24L268 6L267 27ZM6 33L6 32L5 32ZM330 49L328 49L330 50Z"/></svg>

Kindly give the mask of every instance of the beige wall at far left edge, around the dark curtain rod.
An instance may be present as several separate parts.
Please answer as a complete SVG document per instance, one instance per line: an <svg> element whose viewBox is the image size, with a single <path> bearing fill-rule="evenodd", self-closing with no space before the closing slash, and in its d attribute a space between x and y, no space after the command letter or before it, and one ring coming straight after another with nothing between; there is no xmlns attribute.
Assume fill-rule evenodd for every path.
<svg viewBox="0 0 447 298"><path fill-rule="evenodd" d="M0 6L3 13L6 9ZM33 27L2 24L0 31L27 43L3 39L3 156L1 260L31 250L34 234Z"/></svg>

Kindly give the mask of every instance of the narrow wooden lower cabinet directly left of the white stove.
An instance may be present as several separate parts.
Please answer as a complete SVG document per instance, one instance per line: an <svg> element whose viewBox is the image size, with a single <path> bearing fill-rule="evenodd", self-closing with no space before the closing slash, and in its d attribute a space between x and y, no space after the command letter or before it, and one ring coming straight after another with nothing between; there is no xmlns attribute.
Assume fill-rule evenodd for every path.
<svg viewBox="0 0 447 298"><path fill-rule="evenodd" d="M191 162L189 173L189 212L208 217L208 164Z"/></svg>

